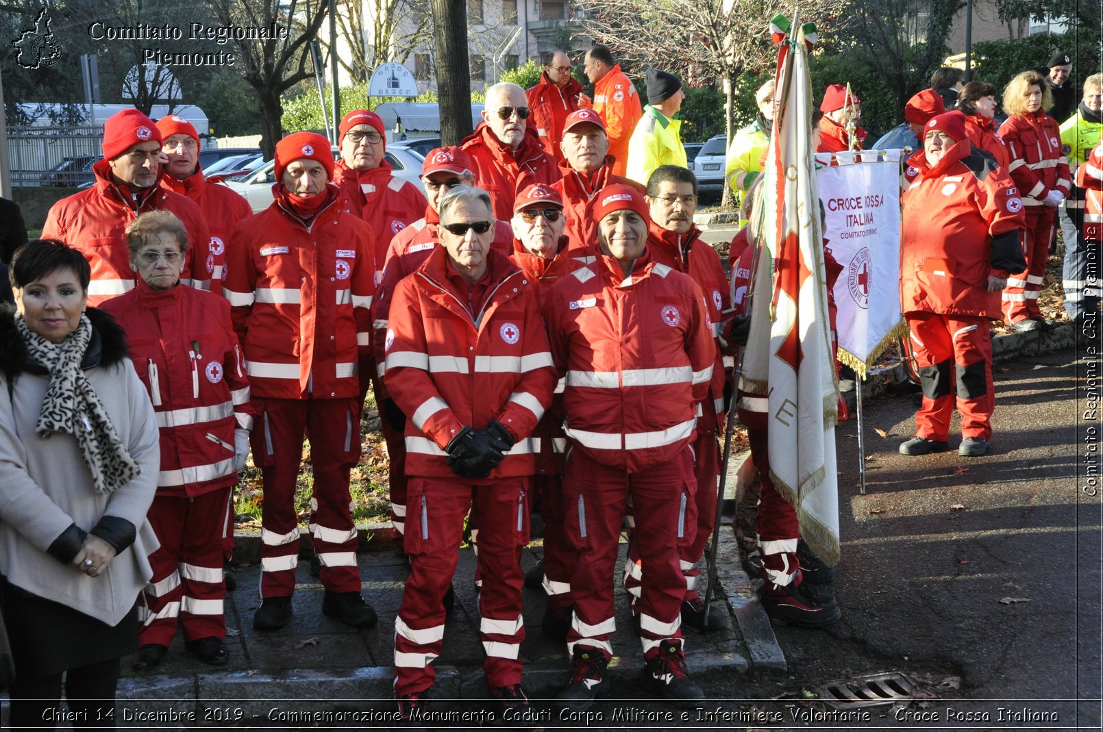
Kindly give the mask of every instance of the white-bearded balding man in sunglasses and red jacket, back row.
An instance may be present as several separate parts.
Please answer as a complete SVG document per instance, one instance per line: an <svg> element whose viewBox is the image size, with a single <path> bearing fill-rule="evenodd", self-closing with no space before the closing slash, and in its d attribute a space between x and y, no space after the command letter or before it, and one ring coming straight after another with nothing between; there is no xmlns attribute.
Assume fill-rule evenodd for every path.
<svg viewBox="0 0 1103 732"><path fill-rule="evenodd" d="M559 180L555 159L544 150L525 90L516 84L495 84L486 89L483 121L463 140L471 159L475 185L490 194L494 217L508 220L517 193L533 183Z"/></svg>

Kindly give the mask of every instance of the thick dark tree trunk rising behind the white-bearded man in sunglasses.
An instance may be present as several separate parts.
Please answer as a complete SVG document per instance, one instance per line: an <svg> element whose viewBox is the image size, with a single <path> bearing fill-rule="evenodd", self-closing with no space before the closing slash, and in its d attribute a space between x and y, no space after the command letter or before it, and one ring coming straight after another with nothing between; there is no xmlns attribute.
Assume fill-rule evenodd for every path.
<svg viewBox="0 0 1103 732"><path fill-rule="evenodd" d="M467 0L431 0L437 43L437 96L441 144L471 134L471 67L468 63Z"/></svg>

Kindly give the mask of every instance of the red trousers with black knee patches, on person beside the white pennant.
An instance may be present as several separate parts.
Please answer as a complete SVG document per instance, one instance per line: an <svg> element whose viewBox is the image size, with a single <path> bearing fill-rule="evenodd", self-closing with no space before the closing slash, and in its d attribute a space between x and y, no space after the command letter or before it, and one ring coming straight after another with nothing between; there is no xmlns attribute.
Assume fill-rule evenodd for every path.
<svg viewBox="0 0 1103 732"><path fill-rule="evenodd" d="M907 317L923 387L915 434L940 442L949 439L956 394L962 437L990 440L996 395L992 381L989 320L981 315L921 312L908 313ZM951 365L955 367L956 380L952 380Z"/></svg>

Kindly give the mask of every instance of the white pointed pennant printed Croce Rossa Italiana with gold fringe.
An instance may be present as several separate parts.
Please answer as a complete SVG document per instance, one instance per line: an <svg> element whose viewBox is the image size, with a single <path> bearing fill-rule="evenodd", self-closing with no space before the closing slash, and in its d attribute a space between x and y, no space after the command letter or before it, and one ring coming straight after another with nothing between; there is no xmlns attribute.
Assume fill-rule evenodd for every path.
<svg viewBox="0 0 1103 732"><path fill-rule="evenodd" d="M834 290L838 359L861 378L907 329L900 316L899 151L889 152L896 154L859 153L861 162L849 164L836 153L843 164L817 172L824 237L843 268Z"/></svg>

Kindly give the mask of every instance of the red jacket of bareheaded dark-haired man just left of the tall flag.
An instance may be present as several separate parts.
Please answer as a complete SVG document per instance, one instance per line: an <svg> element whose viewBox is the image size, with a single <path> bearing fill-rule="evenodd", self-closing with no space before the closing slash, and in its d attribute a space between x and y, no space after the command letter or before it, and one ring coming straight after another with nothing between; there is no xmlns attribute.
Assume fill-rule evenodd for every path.
<svg viewBox="0 0 1103 732"><path fill-rule="evenodd" d="M686 234L676 234L658 226L654 222L647 230L647 249L656 262L688 274L705 293L708 309L708 320L711 324L713 338L716 344L716 358L713 364L713 380L709 384L708 398L713 400L717 428L724 421L724 355L721 354L721 333L724 321L729 317L727 311L731 303L728 297L728 277L720 262L720 255L707 241L702 241L700 229L692 227Z"/></svg>

